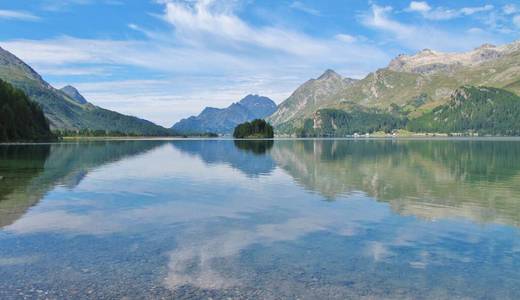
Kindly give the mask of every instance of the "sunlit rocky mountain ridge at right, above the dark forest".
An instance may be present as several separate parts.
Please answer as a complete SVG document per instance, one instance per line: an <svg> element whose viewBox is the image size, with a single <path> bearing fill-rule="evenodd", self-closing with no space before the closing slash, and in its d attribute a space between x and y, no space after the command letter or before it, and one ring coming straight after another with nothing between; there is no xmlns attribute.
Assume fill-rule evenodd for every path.
<svg viewBox="0 0 520 300"><path fill-rule="evenodd" d="M306 119L324 108L400 110L409 118L450 100L461 86L487 86L520 92L520 41L493 46L485 44L465 53L423 50L399 55L386 68L361 80L328 76L313 79L282 102L270 118L278 133L292 134ZM325 74L324 74L325 75Z"/></svg>

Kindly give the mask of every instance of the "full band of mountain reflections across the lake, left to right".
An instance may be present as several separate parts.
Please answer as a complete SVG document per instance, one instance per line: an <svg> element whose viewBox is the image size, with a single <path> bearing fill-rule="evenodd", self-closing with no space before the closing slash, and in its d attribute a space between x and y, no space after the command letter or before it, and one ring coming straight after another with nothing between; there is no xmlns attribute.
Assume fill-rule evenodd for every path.
<svg viewBox="0 0 520 300"><path fill-rule="evenodd" d="M0 147L0 226L55 185L74 187L89 170L146 153L164 141ZM485 140L286 140L169 142L207 164L247 176L276 167L326 200L363 192L403 215L464 217L520 225L520 142Z"/></svg>

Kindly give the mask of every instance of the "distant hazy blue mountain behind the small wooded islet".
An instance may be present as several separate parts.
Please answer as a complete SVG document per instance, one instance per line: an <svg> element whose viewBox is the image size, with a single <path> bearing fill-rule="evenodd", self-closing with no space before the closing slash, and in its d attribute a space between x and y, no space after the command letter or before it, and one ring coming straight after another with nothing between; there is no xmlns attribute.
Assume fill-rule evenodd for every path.
<svg viewBox="0 0 520 300"><path fill-rule="evenodd" d="M206 107L198 116L183 119L173 125L172 129L182 134L220 133L228 134L238 124L264 119L276 111L273 100L248 95L227 108Z"/></svg>

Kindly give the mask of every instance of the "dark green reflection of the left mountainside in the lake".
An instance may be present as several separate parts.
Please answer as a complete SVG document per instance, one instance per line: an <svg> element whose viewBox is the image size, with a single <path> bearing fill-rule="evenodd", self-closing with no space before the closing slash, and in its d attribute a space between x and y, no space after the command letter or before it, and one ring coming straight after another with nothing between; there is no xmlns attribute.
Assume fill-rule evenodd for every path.
<svg viewBox="0 0 520 300"><path fill-rule="evenodd" d="M16 221L57 185L73 188L102 165L163 144L120 141L0 146L0 227Z"/></svg>

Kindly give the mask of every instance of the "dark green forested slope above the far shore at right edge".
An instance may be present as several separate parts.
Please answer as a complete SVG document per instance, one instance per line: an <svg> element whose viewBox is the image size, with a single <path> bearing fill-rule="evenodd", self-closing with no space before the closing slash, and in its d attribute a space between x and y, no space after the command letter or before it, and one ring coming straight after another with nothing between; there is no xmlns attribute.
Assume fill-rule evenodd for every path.
<svg viewBox="0 0 520 300"><path fill-rule="evenodd" d="M412 119L415 132L520 135L520 97L497 88L462 87L451 100Z"/></svg>

